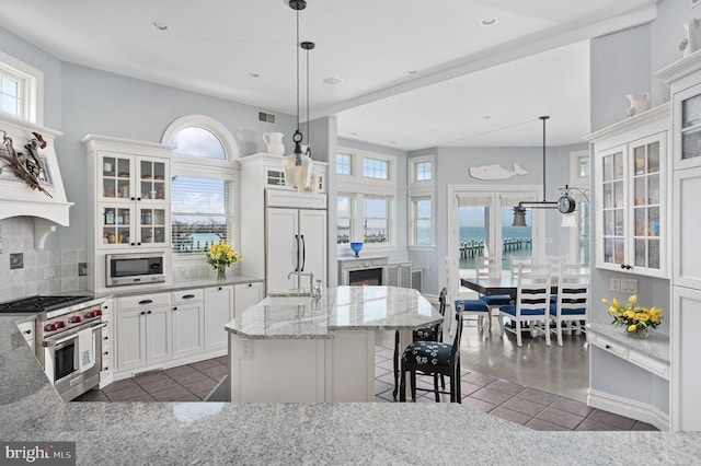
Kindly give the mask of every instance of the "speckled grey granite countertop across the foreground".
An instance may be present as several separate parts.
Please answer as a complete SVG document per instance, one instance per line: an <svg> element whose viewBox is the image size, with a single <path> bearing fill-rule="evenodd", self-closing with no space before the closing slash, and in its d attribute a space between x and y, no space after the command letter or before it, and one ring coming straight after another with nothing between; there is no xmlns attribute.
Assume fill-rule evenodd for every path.
<svg viewBox="0 0 701 466"><path fill-rule="evenodd" d="M701 456L700 433L538 432L456 404L62 403L20 318L0 316L0 441L76 442L79 465L646 466Z"/></svg>

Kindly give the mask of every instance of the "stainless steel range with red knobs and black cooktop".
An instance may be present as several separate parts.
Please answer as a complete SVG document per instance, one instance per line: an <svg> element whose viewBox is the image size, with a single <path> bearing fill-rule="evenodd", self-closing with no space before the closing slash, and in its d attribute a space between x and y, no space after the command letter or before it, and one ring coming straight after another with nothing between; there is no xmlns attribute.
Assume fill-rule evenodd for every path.
<svg viewBox="0 0 701 466"><path fill-rule="evenodd" d="M64 401L99 385L104 299L31 296L0 304L2 313L41 313L35 322L36 358ZM104 322L103 322L104 321Z"/></svg>

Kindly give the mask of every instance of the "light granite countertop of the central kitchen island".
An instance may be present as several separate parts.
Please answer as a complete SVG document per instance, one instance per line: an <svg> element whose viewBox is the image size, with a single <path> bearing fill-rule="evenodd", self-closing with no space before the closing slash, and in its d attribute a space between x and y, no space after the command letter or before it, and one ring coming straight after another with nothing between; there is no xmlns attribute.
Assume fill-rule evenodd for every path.
<svg viewBox="0 0 701 466"><path fill-rule="evenodd" d="M237 313L227 330L252 339L333 338L338 330L409 330L443 321L416 290L337 287L320 300L279 292Z"/></svg>

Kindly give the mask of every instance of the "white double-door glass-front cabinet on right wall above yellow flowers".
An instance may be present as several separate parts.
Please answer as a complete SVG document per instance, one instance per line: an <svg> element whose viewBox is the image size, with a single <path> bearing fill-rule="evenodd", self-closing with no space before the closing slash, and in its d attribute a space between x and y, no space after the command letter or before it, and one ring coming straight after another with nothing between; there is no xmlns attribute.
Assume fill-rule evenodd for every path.
<svg viewBox="0 0 701 466"><path fill-rule="evenodd" d="M596 266L668 277L669 105L589 135L595 145Z"/></svg>

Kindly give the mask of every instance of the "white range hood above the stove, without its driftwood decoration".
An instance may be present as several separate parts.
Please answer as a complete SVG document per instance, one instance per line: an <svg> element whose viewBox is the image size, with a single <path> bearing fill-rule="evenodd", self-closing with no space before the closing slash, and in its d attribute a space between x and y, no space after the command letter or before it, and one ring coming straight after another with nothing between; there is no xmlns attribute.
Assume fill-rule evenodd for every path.
<svg viewBox="0 0 701 466"><path fill-rule="evenodd" d="M8 151L2 143L2 131L12 139L12 145L18 153L28 153L24 145L32 139L36 139L35 132L46 142L46 147L38 149L37 153L43 163L41 186L50 197L39 189L32 189L15 175L5 160L0 158L0 220L11 217L34 217L34 247L41 249L48 234L56 231L57 225L68 226L68 209L73 205L66 199L64 180L54 149L54 140L62 133L23 121L11 115L0 114L0 153L3 155L8 155Z"/></svg>

